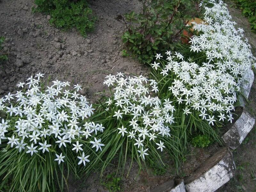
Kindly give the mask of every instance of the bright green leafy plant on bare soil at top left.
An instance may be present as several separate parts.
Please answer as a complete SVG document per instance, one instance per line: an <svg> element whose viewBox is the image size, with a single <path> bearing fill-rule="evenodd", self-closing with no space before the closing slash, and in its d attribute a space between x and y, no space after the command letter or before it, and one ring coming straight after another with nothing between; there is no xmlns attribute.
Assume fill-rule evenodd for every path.
<svg viewBox="0 0 256 192"><path fill-rule="evenodd" d="M35 0L35 4L34 11L50 14L50 23L57 28L67 30L75 27L82 36L94 29L96 17L86 0Z"/></svg>

